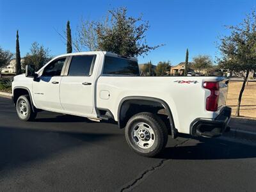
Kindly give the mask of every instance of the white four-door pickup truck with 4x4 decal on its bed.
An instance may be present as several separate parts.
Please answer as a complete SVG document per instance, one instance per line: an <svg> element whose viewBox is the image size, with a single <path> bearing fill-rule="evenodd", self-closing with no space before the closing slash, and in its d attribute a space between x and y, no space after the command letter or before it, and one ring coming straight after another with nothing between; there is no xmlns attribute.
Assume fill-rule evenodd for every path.
<svg viewBox="0 0 256 192"><path fill-rule="evenodd" d="M228 131L227 88L223 77L142 77L136 58L102 51L63 54L37 72L28 65L12 83L20 120L45 110L118 122L132 150L150 157L168 135Z"/></svg>

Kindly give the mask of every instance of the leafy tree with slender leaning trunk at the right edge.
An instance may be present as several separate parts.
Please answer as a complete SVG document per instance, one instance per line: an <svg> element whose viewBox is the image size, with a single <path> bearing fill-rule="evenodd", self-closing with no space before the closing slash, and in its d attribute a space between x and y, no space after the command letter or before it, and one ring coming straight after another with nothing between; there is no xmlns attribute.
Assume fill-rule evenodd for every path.
<svg viewBox="0 0 256 192"><path fill-rule="evenodd" d="M219 49L222 57L219 63L222 68L232 70L243 77L243 84L237 101L236 116L239 116L241 99L249 72L256 70L256 14L248 14L237 26L228 26L229 36L220 38Z"/></svg>

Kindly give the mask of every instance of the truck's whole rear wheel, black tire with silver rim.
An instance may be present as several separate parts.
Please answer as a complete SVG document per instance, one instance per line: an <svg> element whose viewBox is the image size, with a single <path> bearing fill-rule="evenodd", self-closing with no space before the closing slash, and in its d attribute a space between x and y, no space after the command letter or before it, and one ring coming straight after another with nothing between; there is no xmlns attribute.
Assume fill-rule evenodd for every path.
<svg viewBox="0 0 256 192"><path fill-rule="evenodd" d="M140 134L139 138L137 136L134 136L134 132L140 132L143 129L137 128L140 127L140 125L143 124L143 126L147 127L149 126L148 130L151 130L154 132L154 137L150 138L150 140L153 140L153 144L147 145L147 141L142 141L141 143L145 143L145 146L140 146L139 141L141 141ZM143 136L143 135L142 135ZM157 156L165 147L167 141L168 141L168 130L166 126L164 125L164 122L159 118L159 116L154 115L152 113L143 112L138 113L134 116L132 116L129 121L126 124L125 127L125 138L129 145L129 147L134 150L137 154L140 154L141 156L145 157L154 157ZM145 135L143 136L145 139ZM136 142L137 141L137 142ZM148 147L148 148L143 148Z"/></svg>

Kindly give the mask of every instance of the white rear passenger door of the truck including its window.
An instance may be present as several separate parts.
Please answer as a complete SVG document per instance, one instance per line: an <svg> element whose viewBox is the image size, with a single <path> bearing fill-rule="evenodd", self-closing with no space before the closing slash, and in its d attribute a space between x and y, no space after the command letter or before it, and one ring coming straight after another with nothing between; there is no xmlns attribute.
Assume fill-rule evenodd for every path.
<svg viewBox="0 0 256 192"><path fill-rule="evenodd" d="M61 78L60 101L72 115L90 116L93 111L93 66L96 55L77 55L69 59Z"/></svg>

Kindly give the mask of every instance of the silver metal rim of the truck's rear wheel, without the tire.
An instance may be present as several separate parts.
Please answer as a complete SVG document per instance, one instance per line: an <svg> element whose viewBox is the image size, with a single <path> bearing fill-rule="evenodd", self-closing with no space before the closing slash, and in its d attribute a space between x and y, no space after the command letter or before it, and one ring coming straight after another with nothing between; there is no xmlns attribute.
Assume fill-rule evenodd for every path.
<svg viewBox="0 0 256 192"><path fill-rule="evenodd" d="M148 124L141 122L132 128L132 140L140 148L152 147L155 138L155 133Z"/></svg>

